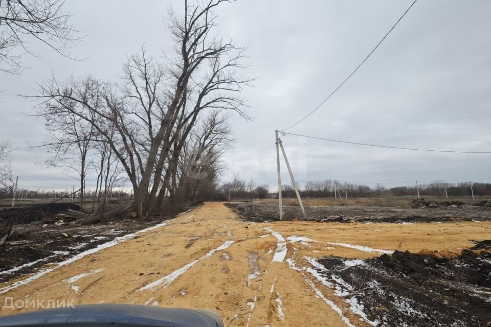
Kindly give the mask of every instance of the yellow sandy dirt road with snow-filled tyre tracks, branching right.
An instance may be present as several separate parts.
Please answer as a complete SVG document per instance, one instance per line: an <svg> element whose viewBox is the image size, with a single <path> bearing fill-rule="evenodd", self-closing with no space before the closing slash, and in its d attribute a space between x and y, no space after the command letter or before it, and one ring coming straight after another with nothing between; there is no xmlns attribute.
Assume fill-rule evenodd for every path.
<svg viewBox="0 0 491 327"><path fill-rule="evenodd" d="M29 275L3 283L0 303L5 297L74 299L211 309L231 326L364 326L342 298L309 274L306 258L365 259L397 248L452 256L471 247L470 240L490 236L490 222L251 223L222 203L205 203L29 283L22 282Z"/></svg>

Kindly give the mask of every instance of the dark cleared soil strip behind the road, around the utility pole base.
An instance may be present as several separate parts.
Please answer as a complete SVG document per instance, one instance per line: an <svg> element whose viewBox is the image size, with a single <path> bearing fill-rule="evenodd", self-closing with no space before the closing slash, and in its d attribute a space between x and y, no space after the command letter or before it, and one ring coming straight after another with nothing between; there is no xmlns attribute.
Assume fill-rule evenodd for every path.
<svg viewBox="0 0 491 327"><path fill-rule="evenodd" d="M226 203L246 221L267 222L279 219L276 204L260 202ZM451 204L439 207L306 206L307 219L318 222L458 222L491 220L491 207ZM298 206L284 205L283 220L303 220Z"/></svg>

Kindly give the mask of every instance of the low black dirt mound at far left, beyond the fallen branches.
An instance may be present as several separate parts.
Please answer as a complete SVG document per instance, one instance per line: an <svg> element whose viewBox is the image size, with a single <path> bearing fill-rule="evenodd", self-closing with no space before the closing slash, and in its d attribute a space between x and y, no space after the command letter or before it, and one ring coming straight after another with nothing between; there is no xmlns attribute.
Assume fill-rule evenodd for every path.
<svg viewBox="0 0 491 327"><path fill-rule="evenodd" d="M65 212L68 209L79 210L73 203L49 203L24 208L10 208L0 211L0 221L13 221L14 224L28 224L43 219L51 219L53 215Z"/></svg>

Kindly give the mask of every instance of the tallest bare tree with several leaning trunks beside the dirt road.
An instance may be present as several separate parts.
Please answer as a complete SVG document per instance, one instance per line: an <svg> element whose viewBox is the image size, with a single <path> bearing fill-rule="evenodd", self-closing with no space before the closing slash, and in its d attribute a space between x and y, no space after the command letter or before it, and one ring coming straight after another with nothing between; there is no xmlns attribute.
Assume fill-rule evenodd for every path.
<svg viewBox="0 0 491 327"><path fill-rule="evenodd" d="M177 158L204 110L232 110L248 118L240 94L252 80L237 75L245 68L240 64L245 49L212 34L211 11L224 2L196 7L186 2L184 17L171 14L175 53L168 62L155 62L142 49L124 66L117 85L90 76L40 85L39 114L73 114L110 145L133 185L140 217L152 213L157 192L169 190ZM109 126L115 135L109 135Z"/></svg>

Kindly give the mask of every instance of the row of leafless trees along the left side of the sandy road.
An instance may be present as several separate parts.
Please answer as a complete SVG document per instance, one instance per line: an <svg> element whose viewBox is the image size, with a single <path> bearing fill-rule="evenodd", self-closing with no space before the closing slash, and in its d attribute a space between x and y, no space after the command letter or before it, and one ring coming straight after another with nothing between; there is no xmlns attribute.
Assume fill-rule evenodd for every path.
<svg viewBox="0 0 491 327"><path fill-rule="evenodd" d="M49 164L76 173L80 202L89 171L101 201L129 183L139 217L217 187L221 155L233 142L228 114L249 119L241 92L252 82L240 74L245 49L215 33L213 10L225 2L185 2L183 15L170 11L173 48L157 59L142 47L115 82L51 76L29 96L50 133L41 145L53 153Z"/></svg>

